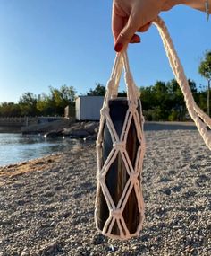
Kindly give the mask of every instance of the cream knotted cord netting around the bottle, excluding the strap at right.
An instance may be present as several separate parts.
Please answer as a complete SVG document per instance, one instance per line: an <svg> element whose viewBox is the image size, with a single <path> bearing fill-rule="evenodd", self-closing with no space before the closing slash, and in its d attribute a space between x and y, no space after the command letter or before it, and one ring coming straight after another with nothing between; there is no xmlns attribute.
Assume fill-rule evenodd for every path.
<svg viewBox="0 0 211 256"><path fill-rule="evenodd" d="M118 84L120 81L120 77L122 74L122 67L124 67L125 72L125 84L127 88L127 99L128 99L128 110L126 112L126 116L124 119L123 127L122 127L122 134L120 137L118 137L114 124L112 122L112 119L109 115L109 107L108 102L111 99L115 99L117 97L118 93ZM139 117L139 112L141 113L141 117ZM135 167L133 168L131 164L131 160L129 158L129 155L126 151L126 142L127 142L127 135L129 132L129 129L131 127L131 120L134 120L134 124L137 130L137 137L139 140L139 148L136 158ZM104 165L102 164L102 137L103 137L103 129L106 125L109 129L109 132L112 137L113 142L113 149L108 155ZM139 228L136 232L136 234L132 234L132 236L139 234L139 231L142 228L142 222L144 219L144 203L143 203L143 197L142 197L142 191L139 186L139 177L140 177L140 171L141 166L143 163L144 158L144 151L145 151L145 140L143 135L143 123L144 119L142 116L142 110L141 110L141 104L139 101L139 89L136 87L136 85L133 82L128 57L126 52L122 54L117 54L115 61L114 61L114 68L111 75L110 80L107 83L107 92L105 94L105 101L103 104L103 108L101 110L101 119L100 119L100 127L97 137L97 193L98 190L101 187L101 190L103 191L103 194L105 196L105 200L107 203L107 206L109 208L110 216L108 217L107 221L105 222L103 234L113 237L113 238L119 238L119 239L128 239L131 237L131 234L124 222L122 212L123 209L127 203L127 200L131 194L131 190L134 188L137 201L138 201L138 207L139 207L139 214L141 222L139 224ZM126 171L129 174L129 180L127 181L125 188L122 192L122 197L119 200L117 206L114 205L114 201L109 193L109 190L106 187L105 184L105 176L108 172L110 166L112 163L114 163L115 158L117 157L117 154L120 153L122 156L122 161L125 165ZM103 166L102 166L103 165ZM96 216L97 218L97 216ZM116 236L114 234L111 234L112 228L114 226L114 223L117 223L119 231L120 231L120 237Z"/></svg>

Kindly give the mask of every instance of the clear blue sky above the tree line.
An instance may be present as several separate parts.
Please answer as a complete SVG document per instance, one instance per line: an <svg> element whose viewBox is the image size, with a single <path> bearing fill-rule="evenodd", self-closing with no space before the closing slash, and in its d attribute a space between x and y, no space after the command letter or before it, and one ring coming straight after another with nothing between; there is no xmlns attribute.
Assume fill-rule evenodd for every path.
<svg viewBox="0 0 211 256"><path fill-rule="evenodd" d="M22 93L48 93L48 86L74 86L87 93L106 84L114 62L112 1L0 0L0 102ZM211 49L206 14L178 6L162 13L186 75L198 85L198 64ZM155 27L131 45L131 71L138 86L173 79ZM124 84L121 84L121 90Z"/></svg>

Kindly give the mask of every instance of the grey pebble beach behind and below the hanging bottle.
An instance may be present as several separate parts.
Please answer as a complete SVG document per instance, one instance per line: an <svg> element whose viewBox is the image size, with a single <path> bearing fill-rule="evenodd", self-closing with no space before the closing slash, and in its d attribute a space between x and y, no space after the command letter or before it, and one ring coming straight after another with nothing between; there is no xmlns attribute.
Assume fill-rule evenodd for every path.
<svg viewBox="0 0 211 256"><path fill-rule="evenodd" d="M0 256L211 255L211 154L191 128L147 129L144 227L107 239L94 222L95 143L0 168Z"/></svg>

